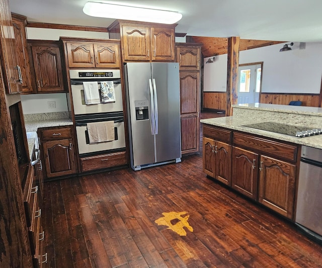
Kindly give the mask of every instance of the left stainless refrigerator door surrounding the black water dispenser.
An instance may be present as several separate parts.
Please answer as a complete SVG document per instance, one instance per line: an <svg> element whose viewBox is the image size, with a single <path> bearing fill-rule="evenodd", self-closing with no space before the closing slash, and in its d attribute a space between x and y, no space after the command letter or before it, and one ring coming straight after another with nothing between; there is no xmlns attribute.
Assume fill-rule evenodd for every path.
<svg viewBox="0 0 322 268"><path fill-rule="evenodd" d="M151 130L151 102L149 79L151 63L131 62L125 66L126 102L129 118L131 165L155 162L154 135ZM148 103L148 119L136 120L135 102Z"/></svg>

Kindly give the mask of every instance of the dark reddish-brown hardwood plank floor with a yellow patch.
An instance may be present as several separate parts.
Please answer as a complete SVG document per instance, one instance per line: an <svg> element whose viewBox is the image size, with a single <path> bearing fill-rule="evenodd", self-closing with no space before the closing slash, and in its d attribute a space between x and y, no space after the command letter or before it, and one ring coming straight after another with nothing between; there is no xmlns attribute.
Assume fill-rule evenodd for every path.
<svg viewBox="0 0 322 268"><path fill-rule="evenodd" d="M319 244L208 178L201 154L46 183L43 211L45 267L322 267ZM170 212L186 235L155 222Z"/></svg>

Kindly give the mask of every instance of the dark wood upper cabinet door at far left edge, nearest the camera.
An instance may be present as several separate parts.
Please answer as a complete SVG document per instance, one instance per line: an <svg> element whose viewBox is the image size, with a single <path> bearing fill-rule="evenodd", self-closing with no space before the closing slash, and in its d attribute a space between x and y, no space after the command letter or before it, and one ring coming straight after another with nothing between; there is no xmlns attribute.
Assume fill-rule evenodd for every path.
<svg viewBox="0 0 322 268"><path fill-rule="evenodd" d="M15 35L8 0L0 1L0 29L1 62L6 91L8 94L20 93L22 91L22 81L20 80L20 66L18 66L16 56Z"/></svg>

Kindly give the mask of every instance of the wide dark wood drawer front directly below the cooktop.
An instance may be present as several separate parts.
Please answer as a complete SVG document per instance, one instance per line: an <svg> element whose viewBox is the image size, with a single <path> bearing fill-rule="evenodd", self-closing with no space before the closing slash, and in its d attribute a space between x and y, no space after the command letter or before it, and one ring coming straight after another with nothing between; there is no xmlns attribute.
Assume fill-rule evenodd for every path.
<svg viewBox="0 0 322 268"><path fill-rule="evenodd" d="M273 140L233 133L233 144L260 151L278 158L296 161L297 147Z"/></svg>

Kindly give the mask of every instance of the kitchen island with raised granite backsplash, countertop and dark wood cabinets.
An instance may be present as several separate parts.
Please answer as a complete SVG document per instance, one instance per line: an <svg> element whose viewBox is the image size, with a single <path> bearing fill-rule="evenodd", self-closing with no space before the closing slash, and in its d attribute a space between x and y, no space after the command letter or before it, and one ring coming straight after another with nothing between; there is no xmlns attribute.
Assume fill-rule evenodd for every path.
<svg viewBox="0 0 322 268"><path fill-rule="evenodd" d="M204 172L294 221L301 146L322 149L322 135L296 137L284 130L321 129L322 109L234 105L233 116L200 122Z"/></svg>

